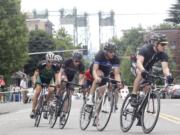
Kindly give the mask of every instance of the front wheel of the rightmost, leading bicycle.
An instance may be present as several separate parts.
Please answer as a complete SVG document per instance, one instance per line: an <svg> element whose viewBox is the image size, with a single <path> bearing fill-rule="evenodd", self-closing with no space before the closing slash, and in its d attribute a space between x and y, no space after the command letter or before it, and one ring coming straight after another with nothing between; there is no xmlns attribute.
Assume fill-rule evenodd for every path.
<svg viewBox="0 0 180 135"><path fill-rule="evenodd" d="M146 104L143 107L142 116L141 116L141 123L142 123L142 130L144 133L150 133L159 118L160 112L160 94L158 93L150 93Z"/></svg>

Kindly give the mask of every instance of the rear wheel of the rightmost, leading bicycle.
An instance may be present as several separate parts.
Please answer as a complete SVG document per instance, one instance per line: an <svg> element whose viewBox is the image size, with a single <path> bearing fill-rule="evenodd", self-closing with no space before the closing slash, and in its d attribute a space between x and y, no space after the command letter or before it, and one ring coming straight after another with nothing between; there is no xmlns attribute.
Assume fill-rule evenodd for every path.
<svg viewBox="0 0 180 135"><path fill-rule="evenodd" d="M124 99L124 102L120 111L120 127L123 132L128 132L135 120L135 108L130 104L131 94L128 94Z"/></svg>

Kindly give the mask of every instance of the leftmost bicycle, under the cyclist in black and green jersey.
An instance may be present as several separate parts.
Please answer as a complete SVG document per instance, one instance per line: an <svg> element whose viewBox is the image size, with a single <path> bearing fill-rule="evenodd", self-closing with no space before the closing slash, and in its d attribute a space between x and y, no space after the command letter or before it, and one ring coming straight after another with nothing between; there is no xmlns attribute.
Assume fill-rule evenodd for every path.
<svg viewBox="0 0 180 135"><path fill-rule="evenodd" d="M37 106L35 109L35 123L34 126L38 127L41 121L41 116L43 112L48 112L47 103L46 103L46 92L48 91L48 85L43 83L41 93L38 97Z"/></svg>

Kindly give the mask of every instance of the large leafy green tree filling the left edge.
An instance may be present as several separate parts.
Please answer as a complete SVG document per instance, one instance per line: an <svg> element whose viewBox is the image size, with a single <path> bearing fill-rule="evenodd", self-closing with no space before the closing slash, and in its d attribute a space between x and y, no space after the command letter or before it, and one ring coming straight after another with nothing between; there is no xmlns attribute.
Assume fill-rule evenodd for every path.
<svg viewBox="0 0 180 135"><path fill-rule="evenodd" d="M25 15L20 0L0 2L0 74L6 78L22 69L28 59Z"/></svg>

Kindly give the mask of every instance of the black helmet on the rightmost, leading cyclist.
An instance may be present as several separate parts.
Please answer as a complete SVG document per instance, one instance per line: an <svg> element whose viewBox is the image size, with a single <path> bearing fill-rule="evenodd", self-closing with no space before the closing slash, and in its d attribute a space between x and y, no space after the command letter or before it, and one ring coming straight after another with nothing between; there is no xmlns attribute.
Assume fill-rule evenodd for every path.
<svg viewBox="0 0 180 135"><path fill-rule="evenodd" d="M165 34L161 33L154 33L151 37L153 42L161 43L161 44L168 44L168 40Z"/></svg>

